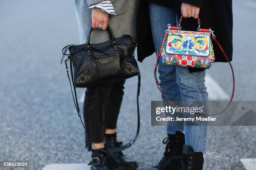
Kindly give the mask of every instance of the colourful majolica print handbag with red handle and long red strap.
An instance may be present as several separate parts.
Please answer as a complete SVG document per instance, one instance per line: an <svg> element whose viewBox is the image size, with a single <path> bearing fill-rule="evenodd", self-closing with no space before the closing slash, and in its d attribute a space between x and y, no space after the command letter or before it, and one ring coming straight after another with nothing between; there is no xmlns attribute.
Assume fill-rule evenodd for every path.
<svg viewBox="0 0 256 170"><path fill-rule="evenodd" d="M233 90L232 95L230 97L230 101L224 112L230 105L234 91L235 91L235 76L233 72L233 67L231 62L228 59L225 51L221 47L218 40L216 40L215 35L213 34L213 30L209 29L201 29L200 28L200 19L197 18L198 28L197 31L186 31L181 30L181 23L183 17L179 19L179 27L173 27L170 24L168 25L168 29L165 31L164 40L161 45L160 51L157 52L156 55L156 65L154 70L154 76L156 80L157 88L160 90L165 99L174 105L162 92L157 75L156 69L158 67L158 63L161 60L163 64L167 66L180 66L180 67L194 67L194 68L210 68L212 63L215 60L214 49L212 46L212 40L216 42L220 50L223 52L226 60L228 61L232 76L233 76ZM176 106L176 105L174 105ZM220 112L220 113L222 113ZM218 114L220 114L218 113ZM212 115L218 115L212 114ZM207 114L209 115L209 114Z"/></svg>

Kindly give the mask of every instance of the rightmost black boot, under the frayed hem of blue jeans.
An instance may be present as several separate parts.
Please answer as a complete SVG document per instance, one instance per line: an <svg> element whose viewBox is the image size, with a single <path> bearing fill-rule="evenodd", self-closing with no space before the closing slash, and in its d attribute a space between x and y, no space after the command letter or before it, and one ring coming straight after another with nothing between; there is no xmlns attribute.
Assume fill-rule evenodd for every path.
<svg viewBox="0 0 256 170"><path fill-rule="evenodd" d="M182 150L180 170L202 170L204 164L203 153L194 152L193 148L184 145Z"/></svg>

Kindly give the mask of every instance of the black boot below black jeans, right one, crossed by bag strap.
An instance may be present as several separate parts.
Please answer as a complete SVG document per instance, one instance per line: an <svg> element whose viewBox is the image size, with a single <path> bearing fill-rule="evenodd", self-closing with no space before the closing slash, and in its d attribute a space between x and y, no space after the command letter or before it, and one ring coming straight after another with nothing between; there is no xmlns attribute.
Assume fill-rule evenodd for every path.
<svg viewBox="0 0 256 170"><path fill-rule="evenodd" d="M116 141L115 134L105 134L104 142L106 148L115 148L122 145L122 142ZM138 164L135 161L128 160L122 152L118 153L108 153L108 158L110 159L111 165L118 170L136 170Z"/></svg>

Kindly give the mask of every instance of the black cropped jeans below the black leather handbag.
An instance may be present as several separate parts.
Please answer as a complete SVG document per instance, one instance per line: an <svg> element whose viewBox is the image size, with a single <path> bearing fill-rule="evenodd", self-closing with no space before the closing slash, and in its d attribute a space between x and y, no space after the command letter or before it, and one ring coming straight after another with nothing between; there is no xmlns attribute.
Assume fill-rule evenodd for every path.
<svg viewBox="0 0 256 170"><path fill-rule="evenodd" d="M84 97L84 122L87 128L86 146L103 142L105 129L115 129L125 80L87 87Z"/></svg>

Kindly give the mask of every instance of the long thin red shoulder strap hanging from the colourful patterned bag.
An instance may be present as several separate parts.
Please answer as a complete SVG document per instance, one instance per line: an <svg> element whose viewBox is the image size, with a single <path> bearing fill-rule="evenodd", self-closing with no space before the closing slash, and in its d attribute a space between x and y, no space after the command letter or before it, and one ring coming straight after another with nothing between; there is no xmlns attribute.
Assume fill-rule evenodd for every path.
<svg viewBox="0 0 256 170"><path fill-rule="evenodd" d="M173 106L175 107L179 107L177 105L175 105L173 102L171 102L167 97L166 95L164 94L164 92L161 90L160 88L160 84L159 84L159 81L157 79L157 75L156 75L156 70L157 70L157 67L158 67L158 63L159 63L159 60L161 58L161 54L162 54L162 51L163 51L163 48L164 48L164 44L165 44L165 41L166 41L166 38L167 38L167 35L168 35L168 32L165 32L165 35L164 35L164 40L162 42L162 45L161 45L161 49L160 51L157 51L157 55L156 55L156 65L155 65L155 69L154 69L154 77L155 77L155 80L156 80L156 85L157 85L157 88L159 89L159 91L162 93L162 95L164 96L164 98ZM199 115L218 115L220 113L223 113L231 104L232 100L233 100L233 96L234 96L234 92L235 92L235 75L234 75L234 70L233 70L233 67L231 65L231 62L230 60L228 59L228 56L226 55L225 51L223 50L223 48L221 47L220 43L218 42L218 40L215 38L215 36L212 37L212 40L214 40L216 42L216 44L218 45L218 47L220 48L220 50L222 51L223 55L225 56L226 60L228 61L228 64L230 66L230 69L231 69L231 72L232 72L232 79L233 79L233 89L232 89L232 95L230 97L230 100L228 102L228 105L225 107L224 110L222 110L221 112L219 113L215 113L215 114L204 114L204 113L197 113Z"/></svg>

